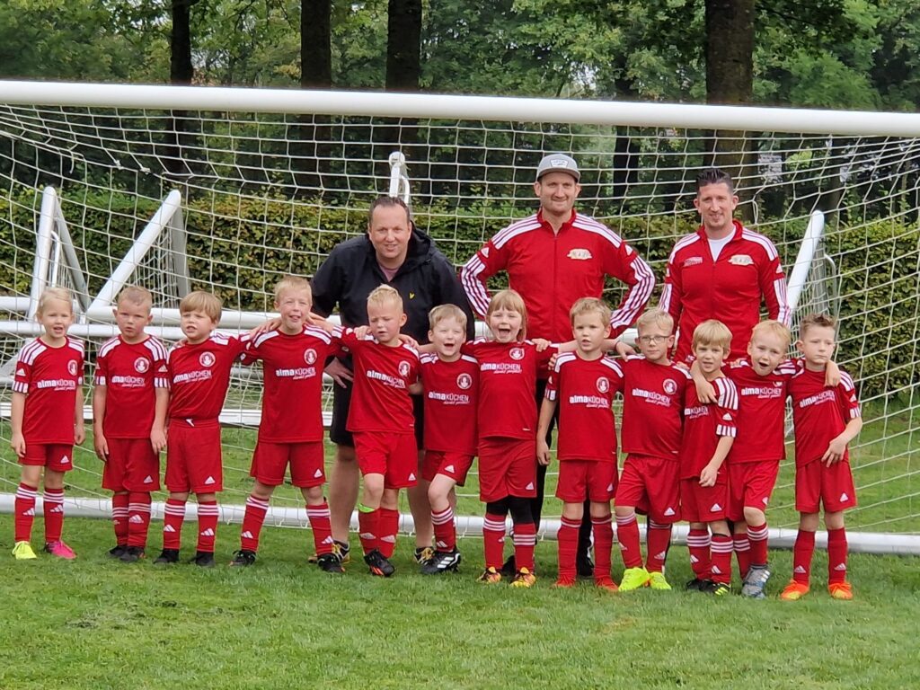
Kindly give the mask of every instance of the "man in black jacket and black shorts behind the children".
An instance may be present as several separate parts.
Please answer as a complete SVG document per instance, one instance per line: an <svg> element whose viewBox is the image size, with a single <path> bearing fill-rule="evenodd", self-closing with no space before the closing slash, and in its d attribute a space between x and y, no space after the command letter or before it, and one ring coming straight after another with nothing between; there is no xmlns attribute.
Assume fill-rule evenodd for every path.
<svg viewBox="0 0 920 690"><path fill-rule="evenodd" d="M335 247L313 277L313 307L328 316L336 310L343 326L367 324L367 295L388 284L403 298L408 316L402 329L419 342L428 341L428 313L437 305L454 304L467 314L468 337L473 336L473 314L456 270L411 221L406 204L380 197L371 205L367 235ZM332 537L347 552L351 512L358 500L358 464L351 433L346 431L351 400L351 362L332 362L327 373L335 386L329 439L336 443L335 470L329 480ZM416 398L416 438L421 447L421 399ZM431 547L431 508L427 487L409 489L409 508L415 521L416 553Z"/></svg>

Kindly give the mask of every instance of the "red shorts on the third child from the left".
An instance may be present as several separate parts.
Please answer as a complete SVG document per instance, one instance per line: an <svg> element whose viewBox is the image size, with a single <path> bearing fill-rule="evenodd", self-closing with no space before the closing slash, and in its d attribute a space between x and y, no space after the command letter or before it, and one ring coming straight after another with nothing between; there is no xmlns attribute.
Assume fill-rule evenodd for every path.
<svg viewBox="0 0 920 690"><path fill-rule="evenodd" d="M216 421L169 422L167 430L167 489L184 493L224 490L221 465L221 425Z"/></svg>

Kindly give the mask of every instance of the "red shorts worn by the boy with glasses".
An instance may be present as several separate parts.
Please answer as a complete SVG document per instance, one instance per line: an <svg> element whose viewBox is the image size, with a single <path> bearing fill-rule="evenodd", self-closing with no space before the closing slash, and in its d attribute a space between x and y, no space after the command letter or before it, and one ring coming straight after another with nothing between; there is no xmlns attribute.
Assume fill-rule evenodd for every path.
<svg viewBox="0 0 920 690"><path fill-rule="evenodd" d="M656 523L681 519L680 463L650 455L628 455L616 487L616 505L634 506Z"/></svg>

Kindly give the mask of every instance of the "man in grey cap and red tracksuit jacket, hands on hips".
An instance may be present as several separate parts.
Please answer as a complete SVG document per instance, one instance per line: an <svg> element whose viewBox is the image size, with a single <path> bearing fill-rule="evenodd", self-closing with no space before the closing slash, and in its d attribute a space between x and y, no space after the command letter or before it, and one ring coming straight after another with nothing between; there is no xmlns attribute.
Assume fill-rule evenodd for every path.
<svg viewBox="0 0 920 690"><path fill-rule="evenodd" d="M546 155L540 161L534 183L540 210L500 230L460 272L466 296L479 316L489 308L486 281L501 270L507 271L510 286L521 293L527 306L528 338L553 342L572 339L571 305L581 297L601 297L608 275L628 285L610 319L612 336L622 333L641 314L655 286L655 276L615 232L574 211L581 192L580 179L578 165L568 155ZM536 388L537 407L543 400L547 375L541 375ZM537 467L537 481L531 510L539 525L546 466ZM584 514L589 514L587 507ZM588 519L582 524L579 539L579 573L583 576L592 571L590 540Z"/></svg>

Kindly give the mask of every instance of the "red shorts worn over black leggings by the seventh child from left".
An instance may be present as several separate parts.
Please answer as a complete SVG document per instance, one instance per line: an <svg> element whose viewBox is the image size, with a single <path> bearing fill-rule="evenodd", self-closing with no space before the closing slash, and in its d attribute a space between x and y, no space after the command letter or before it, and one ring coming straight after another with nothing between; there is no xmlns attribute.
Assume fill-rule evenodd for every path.
<svg viewBox="0 0 920 690"><path fill-rule="evenodd" d="M536 496L536 439L479 442L479 500Z"/></svg>

